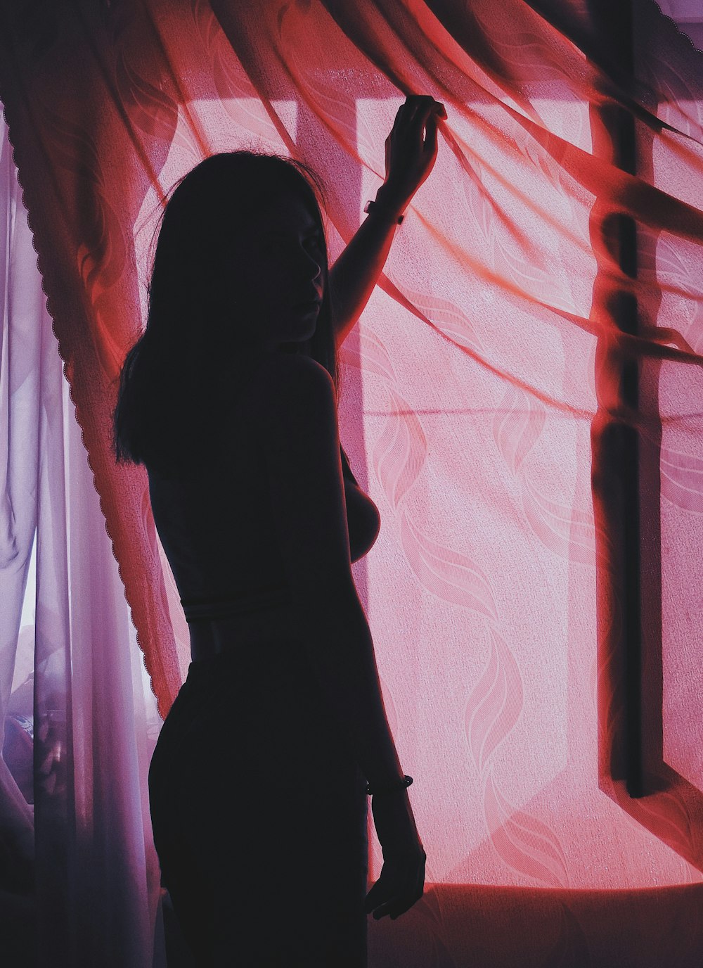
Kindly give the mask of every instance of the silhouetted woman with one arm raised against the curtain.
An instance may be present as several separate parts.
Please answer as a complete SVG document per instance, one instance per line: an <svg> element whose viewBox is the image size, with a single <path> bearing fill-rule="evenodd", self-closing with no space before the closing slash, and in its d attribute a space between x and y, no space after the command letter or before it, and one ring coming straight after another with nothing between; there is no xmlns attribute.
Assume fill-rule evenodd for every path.
<svg viewBox="0 0 703 968"><path fill-rule="evenodd" d="M437 151L410 97L386 180L328 276L316 176L215 155L165 208L115 409L189 622L149 773L162 883L198 966L366 965L366 915L425 886L351 562L378 511L339 446L337 350ZM366 895L366 783L384 863ZM375 790L378 793L374 793Z"/></svg>

